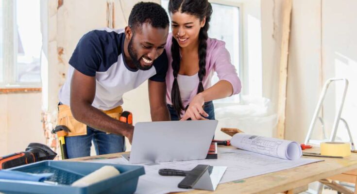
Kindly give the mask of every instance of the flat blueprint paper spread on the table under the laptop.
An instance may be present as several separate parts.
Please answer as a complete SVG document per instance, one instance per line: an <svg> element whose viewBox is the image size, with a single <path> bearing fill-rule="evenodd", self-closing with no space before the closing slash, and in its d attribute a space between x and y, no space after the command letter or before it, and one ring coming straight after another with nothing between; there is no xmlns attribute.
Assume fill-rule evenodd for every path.
<svg viewBox="0 0 357 194"><path fill-rule="evenodd" d="M218 148L218 159L159 162L150 164L140 164L145 168L145 175L139 177L136 194L166 194L170 192L184 192L187 189L177 187L184 177L164 177L158 174L161 168L172 168L179 170L191 170L198 164L208 164L212 166L227 166L220 183L230 182L243 178L255 177L267 173L277 172L319 162L322 160L300 158L297 160L285 160L267 155L257 154L240 149ZM116 163L133 165L123 158L93 160L88 162Z"/></svg>

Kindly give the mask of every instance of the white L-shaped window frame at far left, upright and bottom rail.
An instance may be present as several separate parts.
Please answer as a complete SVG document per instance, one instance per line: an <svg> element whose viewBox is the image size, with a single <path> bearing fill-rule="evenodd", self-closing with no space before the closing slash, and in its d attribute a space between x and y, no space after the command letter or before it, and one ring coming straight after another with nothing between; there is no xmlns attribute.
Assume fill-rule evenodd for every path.
<svg viewBox="0 0 357 194"><path fill-rule="evenodd" d="M0 81L0 89L9 88L41 88L42 82L21 82L17 81L17 0L2 0L2 81ZM6 31L4 29L7 29ZM24 90L24 91L25 91Z"/></svg>

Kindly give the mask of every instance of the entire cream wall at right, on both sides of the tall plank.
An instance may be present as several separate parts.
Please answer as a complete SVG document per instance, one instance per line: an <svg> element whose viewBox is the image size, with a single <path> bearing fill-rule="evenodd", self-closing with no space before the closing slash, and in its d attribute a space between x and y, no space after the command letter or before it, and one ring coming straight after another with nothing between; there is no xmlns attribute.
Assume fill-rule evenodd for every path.
<svg viewBox="0 0 357 194"><path fill-rule="evenodd" d="M263 0L263 96L277 110L283 0ZM321 4L322 3L322 4ZM356 128L353 115L356 99L357 13L354 0L293 0L289 45L286 139L303 142L323 82L331 77L348 77L350 90L343 117ZM334 87L332 87L334 89ZM332 126L338 95L330 92L323 107L327 129ZM337 97L336 97L337 96ZM317 124L314 138L322 138ZM319 130L320 129L320 130ZM328 130L330 131L330 130ZM356 131L356 130L355 130ZM329 133L328 133L329 135ZM346 137L346 134L341 134ZM354 132L354 137L357 133ZM356 138L355 138L356 139Z"/></svg>

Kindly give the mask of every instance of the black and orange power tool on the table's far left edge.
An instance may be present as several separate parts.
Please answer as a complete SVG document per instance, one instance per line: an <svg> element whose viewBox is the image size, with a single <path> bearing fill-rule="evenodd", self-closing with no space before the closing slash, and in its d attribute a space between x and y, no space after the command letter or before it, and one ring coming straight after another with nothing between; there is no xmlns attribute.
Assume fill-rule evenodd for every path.
<svg viewBox="0 0 357 194"><path fill-rule="evenodd" d="M0 170L43 160L53 160L56 155L56 152L46 145L31 143L24 152L0 157Z"/></svg>

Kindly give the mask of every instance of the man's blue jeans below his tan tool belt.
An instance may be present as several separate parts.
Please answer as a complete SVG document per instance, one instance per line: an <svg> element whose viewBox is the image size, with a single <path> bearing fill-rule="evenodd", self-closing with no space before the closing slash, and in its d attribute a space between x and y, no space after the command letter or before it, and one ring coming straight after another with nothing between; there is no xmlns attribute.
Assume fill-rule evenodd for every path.
<svg viewBox="0 0 357 194"><path fill-rule="evenodd" d="M106 134L87 126L86 135L65 137L68 159L90 156L92 140L97 155L124 152L126 149L123 136Z"/></svg>

